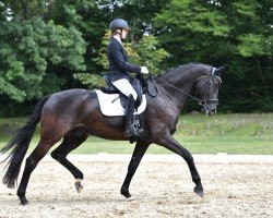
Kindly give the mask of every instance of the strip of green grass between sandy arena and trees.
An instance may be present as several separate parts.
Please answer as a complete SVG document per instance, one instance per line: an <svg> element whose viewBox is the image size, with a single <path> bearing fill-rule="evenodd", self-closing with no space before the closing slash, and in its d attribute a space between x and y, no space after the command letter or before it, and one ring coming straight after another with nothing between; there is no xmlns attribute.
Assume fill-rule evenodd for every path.
<svg viewBox="0 0 273 218"><path fill-rule="evenodd" d="M0 147L22 126L27 118L0 119ZM193 154L260 154L273 155L273 113L217 114L215 117L181 116L175 138ZM29 150L37 145L38 130ZM56 147L56 146L55 146ZM131 154L129 142L90 137L74 154ZM151 145L150 154L171 154Z"/></svg>

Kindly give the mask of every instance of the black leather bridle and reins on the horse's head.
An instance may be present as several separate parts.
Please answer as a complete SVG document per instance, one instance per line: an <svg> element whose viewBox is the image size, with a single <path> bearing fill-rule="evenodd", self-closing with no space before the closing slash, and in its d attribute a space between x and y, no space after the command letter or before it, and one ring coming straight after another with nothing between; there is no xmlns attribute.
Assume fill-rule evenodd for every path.
<svg viewBox="0 0 273 218"><path fill-rule="evenodd" d="M212 69L212 73L211 73L210 75L207 75L207 76L209 76L209 80L203 84L203 86L205 86L206 84L209 84L207 92L205 93L203 99L197 98L195 96L192 96L192 95L190 95L190 94L188 94L188 93L186 93L186 92L183 92L183 90L177 88L176 86L174 86L173 84L170 84L170 83L168 83L168 82L166 82L166 81L163 81L163 80L161 80L161 78L158 78L158 77L157 77L157 80L158 80L161 83L163 83L163 84L165 84L165 85L167 85L167 86L174 88L175 90L177 90L177 92L179 92L179 93L182 93L183 95L190 97L192 100L197 101L198 105L205 107L205 106L207 106L207 104L216 104L216 105L218 105L218 99L205 99L205 97L207 96L207 94L211 95L211 93L212 93L212 84L213 84L213 83L212 83L212 80L213 80L213 78L216 78L216 81L218 82L218 84L222 83L221 77L217 76L217 75L215 75L215 71L216 71L216 68L213 68L213 69ZM195 86L198 83L200 83L200 82L201 82L201 81L198 81L198 82L194 84L194 86ZM202 86L202 87L203 87L203 86ZM210 90L209 90L209 89L210 89ZM210 92L210 93L209 93L209 92Z"/></svg>

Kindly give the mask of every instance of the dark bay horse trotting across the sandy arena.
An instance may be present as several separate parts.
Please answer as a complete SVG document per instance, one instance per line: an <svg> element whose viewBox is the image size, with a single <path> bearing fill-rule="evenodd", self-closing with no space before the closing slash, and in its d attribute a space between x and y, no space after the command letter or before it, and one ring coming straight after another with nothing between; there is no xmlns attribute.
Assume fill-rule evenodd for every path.
<svg viewBox="0 0 273 218"><path fill-rule="evenodd" d="M151 87L157 87L157 95L146 94L147 108L140 116L144 132L135 144L128 173L121 186L123 196L131 197L129 192L131 179L152 143L180 155L186 160L192 181L195 183L194 192L200 196L203 195L201 178L191 154L171 135L176 132L181 109L192 93L195 97L191 97L200 99L202 110L207 116L216 113L221 73L225 71L225 68L216 69L205 64L189 63L170 69L147 81ZM36 105L27 123L0 150L0 154L3 154L13 148L7 158L9 159L8 170L3 178L3 183L8 187L15 186L22 161L39 121L41 122L40 140L26 158L25 169L17 189L17 196L22 205L27 204L25 192L33 170L61 138L63 141L51 153L51 157L73 174L79 192L82 189L83 173L67 159L67 155L79 147L88 135L114 141L128 140L123 134L124 117L104 116L94 90L70 89L45 96Z"/></svg>

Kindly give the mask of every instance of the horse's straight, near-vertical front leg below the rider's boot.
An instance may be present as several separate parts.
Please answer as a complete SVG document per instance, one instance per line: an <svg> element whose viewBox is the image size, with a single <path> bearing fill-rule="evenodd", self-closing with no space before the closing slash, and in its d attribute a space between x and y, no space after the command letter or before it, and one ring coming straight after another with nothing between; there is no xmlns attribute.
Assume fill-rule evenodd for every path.
<svg viewBox="0 0 273 218"><path fill-rule="evenodd" d="M131 194L129 192L129 185L131 183L132 177L135 173L135 171L136 171L136 169L138 169L138 167L140 165L140 161L141 161L143 155L145 154L149 145L150 145L149 143L138 142L135 147L134 147L131 161L130 161L130 164L128 166L128 172L127 172L124 182L123 182L123 184L121 186L121 190L120 190L120 193L123 196L126 196L127 199L132 199Z"/></svg>

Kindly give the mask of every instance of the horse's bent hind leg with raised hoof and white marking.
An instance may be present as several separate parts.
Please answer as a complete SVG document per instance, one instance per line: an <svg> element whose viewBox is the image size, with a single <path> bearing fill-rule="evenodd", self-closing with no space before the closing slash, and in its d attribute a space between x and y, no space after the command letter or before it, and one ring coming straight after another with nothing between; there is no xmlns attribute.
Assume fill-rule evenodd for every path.
<svg viewBox="0 0 273 218"><path fill-rule="evenodd" d="M73 149L78 148L88 135L76 131L70 132L63 137L62 143L52 153L51 157L66 167L75 178L75 187L80 193L83 189L81 181L83 180L83 173L67 159L67 155Z"/></svg>

